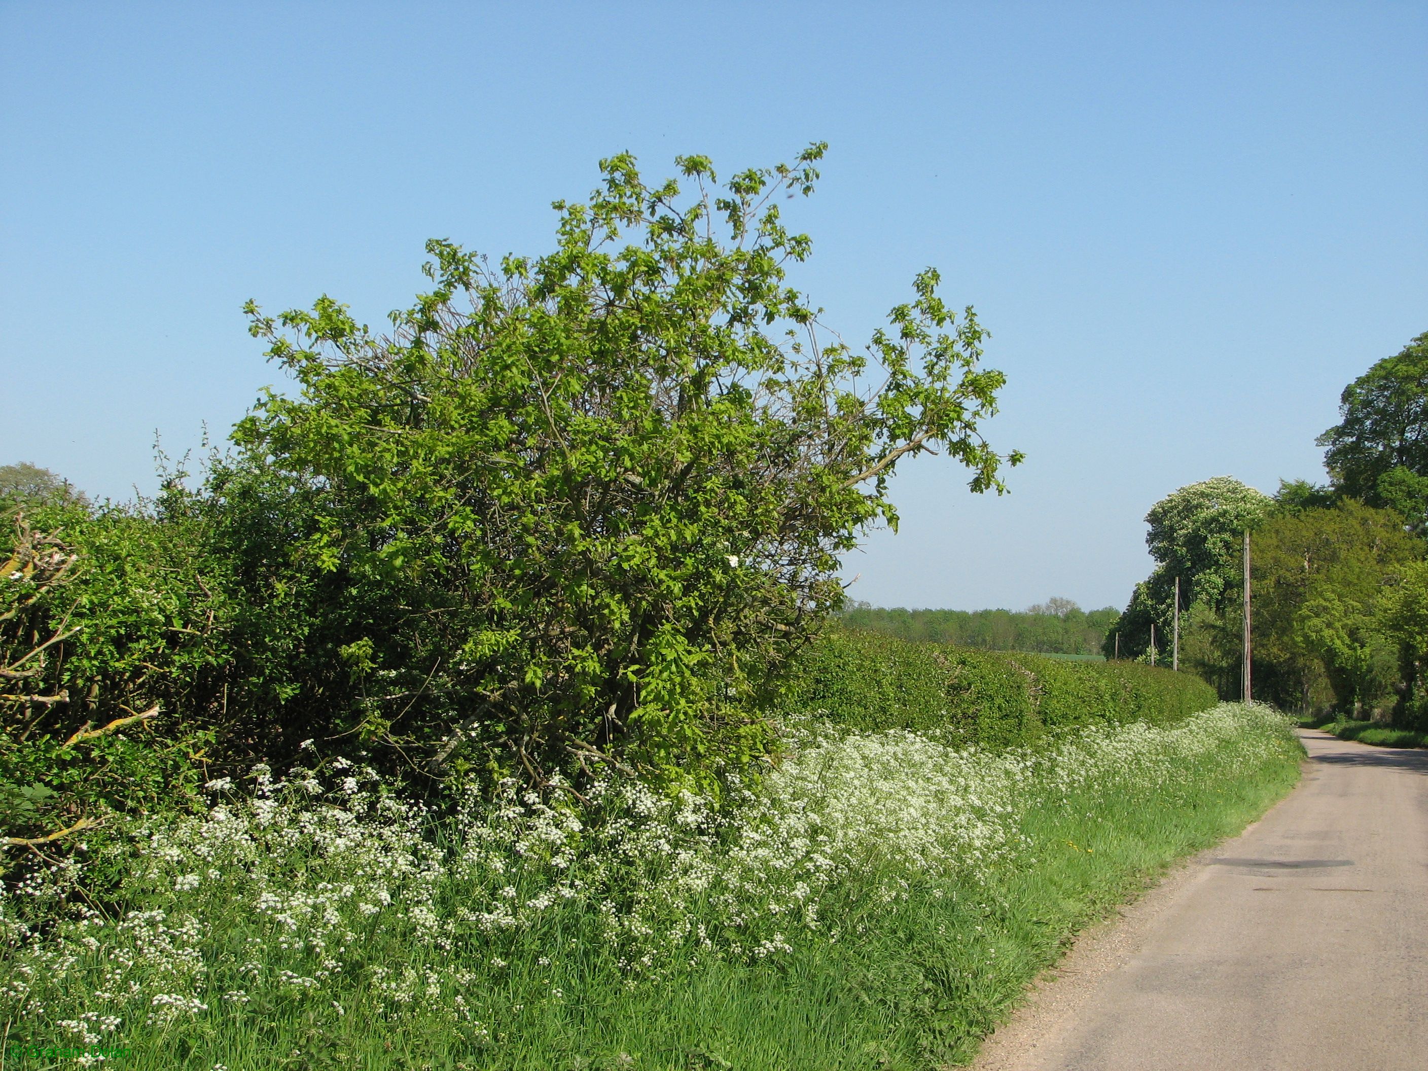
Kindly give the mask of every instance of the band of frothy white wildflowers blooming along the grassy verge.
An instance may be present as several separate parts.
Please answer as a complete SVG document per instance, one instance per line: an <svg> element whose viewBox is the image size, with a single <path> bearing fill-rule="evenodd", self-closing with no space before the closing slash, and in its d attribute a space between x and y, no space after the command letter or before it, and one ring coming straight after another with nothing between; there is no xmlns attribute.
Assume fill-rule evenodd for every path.
<svg viewBox="0 0 1428 1071"><path fill-rule="evenodd" d="M506 781L440 823L344 761L281 780L258 767L250 793L211 783L207 814L134 833L123 917L76 907L56 921L56 904L77 902L76 864L7 894L0 1012L63 1015L89 1038L244 1014L260 995L346 1015L361 992L364 1014L436 1011L483 1035L516 970L563 997L573 934L631 978L787 955L835 938L838 920L820 910L834 890L891 901L980 881L1032 848L1030 811L1252 773L1282 754L1284 725L1222 704L1171 728L984 751L810 720L777 768L721 805L615 778L578 790L557 778L541 794Z"/></svg>

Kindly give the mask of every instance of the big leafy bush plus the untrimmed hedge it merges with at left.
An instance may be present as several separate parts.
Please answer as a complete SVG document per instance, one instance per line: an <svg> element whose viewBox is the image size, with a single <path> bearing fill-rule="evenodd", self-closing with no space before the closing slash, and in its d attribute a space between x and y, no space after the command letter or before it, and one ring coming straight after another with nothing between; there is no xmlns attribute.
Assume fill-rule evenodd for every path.
<svg viewBox="0 0 1428 1071"><path fill-rule="evenodd" d="M935 271L863 353L788 286L810 240L781 207L821 154L723 187L703 157L658 184L607 160L545 256L430 243L388 334L250 303L294 388L154 501L0 470L6 833L308 741L421 791L710 784L763 754L840 555L897 523L901 460L952 457L974 491L1020 461L978 431L1004 377Z"/></svg>

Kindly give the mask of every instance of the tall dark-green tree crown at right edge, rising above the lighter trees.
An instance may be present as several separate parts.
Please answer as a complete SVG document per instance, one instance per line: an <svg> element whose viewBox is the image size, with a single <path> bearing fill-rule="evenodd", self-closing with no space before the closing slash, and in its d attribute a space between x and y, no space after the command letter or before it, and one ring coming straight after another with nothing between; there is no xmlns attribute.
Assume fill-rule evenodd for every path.
<svg viewBox="0 0 1428 1071"><path fill-rule="evenodd" d="M1428 521L1428 333L1348 384L1318 443L1342 494Z"/></svg>

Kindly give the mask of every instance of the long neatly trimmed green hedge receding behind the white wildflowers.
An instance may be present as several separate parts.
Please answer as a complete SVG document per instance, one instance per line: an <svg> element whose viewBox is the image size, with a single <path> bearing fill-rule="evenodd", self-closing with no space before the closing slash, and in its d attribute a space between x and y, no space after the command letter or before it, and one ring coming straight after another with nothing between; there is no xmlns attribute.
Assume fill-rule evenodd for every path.
<svg viewBox="0 0 1428 1071"><path fill-rule="evenodd" d="M850 728L955 728L970 744L1010 747L1067 725L1167 724L1218 697L1194 674L1137 663L1068 663L837 630L805 653L784 701Z"/></svg>

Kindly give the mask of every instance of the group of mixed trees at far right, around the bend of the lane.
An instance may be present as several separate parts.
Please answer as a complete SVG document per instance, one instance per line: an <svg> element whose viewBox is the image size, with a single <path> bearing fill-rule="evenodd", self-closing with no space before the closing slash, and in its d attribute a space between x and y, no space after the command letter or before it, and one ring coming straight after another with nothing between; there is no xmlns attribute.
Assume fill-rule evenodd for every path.
<svg viewBox="0 0 1428 1071"><path fill-rule="evenodd" d="M1375 363L1318 438L1329 481L1265 496L1231 477L1182 487L1147 514L1151 575L1102 650L1164 658L1175 581L1181 664L1227 698L1242 668L1244 533L1251 533L1254 697L1285 710L1428 725L1428 333Z"/></svg>

